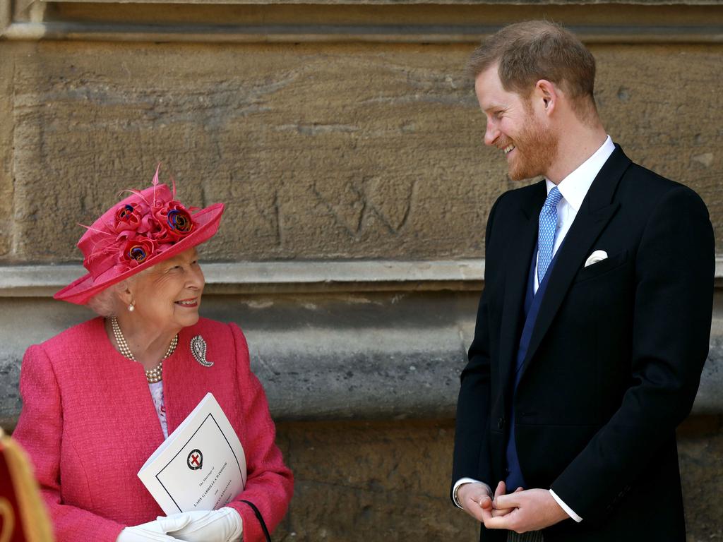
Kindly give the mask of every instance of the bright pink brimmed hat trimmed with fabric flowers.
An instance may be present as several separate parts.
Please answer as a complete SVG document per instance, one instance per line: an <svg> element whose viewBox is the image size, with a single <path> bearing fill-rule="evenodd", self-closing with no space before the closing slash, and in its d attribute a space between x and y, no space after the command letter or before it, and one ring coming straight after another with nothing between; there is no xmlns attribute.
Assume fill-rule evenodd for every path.
<svg viewBox="0 0 723 542"><path fill-rule="evenodd" d="M86 226L78 248L88 273L54 298L85 304L108 286L201 244L218 231L223 203L194 210L175 197L176 185L171 192L165 184L158 184L156 169L152 186L132 191L93 225Z"/></svg>

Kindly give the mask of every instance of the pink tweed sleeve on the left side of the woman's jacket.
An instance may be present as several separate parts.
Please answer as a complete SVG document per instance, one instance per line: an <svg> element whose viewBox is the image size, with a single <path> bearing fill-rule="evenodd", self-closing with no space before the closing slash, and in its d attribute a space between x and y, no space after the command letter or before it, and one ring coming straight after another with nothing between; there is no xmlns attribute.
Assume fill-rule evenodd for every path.
<svg viewBox="0 0 723 542"><path fill-rule="evenodd" d="M33 345L25 352L20 369L20 395L22 412L12 436L33 463L56 541L115 542L124 525L62 502L62 397L53 364L42 345Z"/></svg>

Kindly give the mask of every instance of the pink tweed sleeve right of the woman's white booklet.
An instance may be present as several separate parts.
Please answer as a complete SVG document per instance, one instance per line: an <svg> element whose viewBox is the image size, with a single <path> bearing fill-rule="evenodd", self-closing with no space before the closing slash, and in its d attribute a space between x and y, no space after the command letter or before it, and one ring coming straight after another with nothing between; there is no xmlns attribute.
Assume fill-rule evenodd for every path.
<svg viewBox="0 0 723 542"><path fill-rule="evenodd" d="M294 492L294 476L275 444L276 429L269 413L266 395L259 379L249 367L249 349L241 330L231 324L236 343L236 377L241 390L241 414L244 417L244 449L247 481L244 491L228 504L244 522L244 542L262 542L265 536L251 507L252 502L273 532L286 514Z"/></svg>

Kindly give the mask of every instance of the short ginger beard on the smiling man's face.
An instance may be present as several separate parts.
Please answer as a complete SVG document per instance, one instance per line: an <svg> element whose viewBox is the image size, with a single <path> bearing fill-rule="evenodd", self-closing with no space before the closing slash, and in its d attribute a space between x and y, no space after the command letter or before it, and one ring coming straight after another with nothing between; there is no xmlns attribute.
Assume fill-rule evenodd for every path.
<svg viewBox="0 0 723 542"><path fill-rule="evenodd" d="M501 148L515 145L507 156L508 175L513 181L544 176L557 156L557 137L536 120L531 103L525 104L527 118L514 139L509 139Z"/></svg>

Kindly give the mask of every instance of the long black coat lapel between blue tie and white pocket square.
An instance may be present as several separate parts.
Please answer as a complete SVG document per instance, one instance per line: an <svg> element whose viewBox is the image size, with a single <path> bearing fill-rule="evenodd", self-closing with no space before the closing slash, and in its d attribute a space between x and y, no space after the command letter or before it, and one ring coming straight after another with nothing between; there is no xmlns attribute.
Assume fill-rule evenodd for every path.
<svg viewBox="0 0 723 542"><path fill-rule="evenodd" d="M625 156L619 146L615 145L615 147L615 151L612 152L595 177L567 236L565 236L565 242L560 246L557 261L548 278L547 291L544 293L532 330L529 348L521 369L521 378L524 377L542 338L552 324L557 310L560 309L573 278L585 261L592 245L612 216L615 215L617 207L620 206L612 199L620 178L630 165L630 159Z"/></svg>

